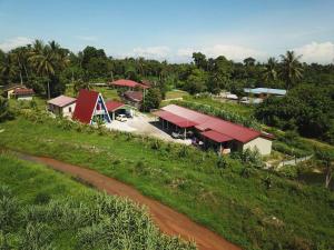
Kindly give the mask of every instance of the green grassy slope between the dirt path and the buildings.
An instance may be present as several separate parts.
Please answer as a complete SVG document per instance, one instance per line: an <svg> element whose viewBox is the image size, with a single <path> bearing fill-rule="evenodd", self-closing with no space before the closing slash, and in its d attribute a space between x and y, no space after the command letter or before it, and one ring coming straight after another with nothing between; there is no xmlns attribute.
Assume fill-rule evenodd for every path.
<svg viewBox="0 0 334 250"><path fill-rule="evenodd" d="M181 146L156 146L126 133L77 132L56 120L36 123L19 117L0 127L6 130L0 146L50 156L130 183L244 249L334 248L334 194L323 187L255 169L245 178L237 161L217 169L210 152L190 148L184 152ZM268 174L271 189L265 184Z"/></svg>

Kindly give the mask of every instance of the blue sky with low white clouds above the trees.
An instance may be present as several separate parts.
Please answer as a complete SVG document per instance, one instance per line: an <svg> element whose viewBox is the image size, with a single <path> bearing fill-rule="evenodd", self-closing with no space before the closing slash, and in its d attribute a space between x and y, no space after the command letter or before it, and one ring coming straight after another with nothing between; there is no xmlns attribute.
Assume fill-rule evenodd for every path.
<svg viewBox="0 0 334 250"><path fill-rule="evenodd" d="M0 49L35 39L115 58L265 61L295 50L334 63L334 0L0 0Z"/></svg>

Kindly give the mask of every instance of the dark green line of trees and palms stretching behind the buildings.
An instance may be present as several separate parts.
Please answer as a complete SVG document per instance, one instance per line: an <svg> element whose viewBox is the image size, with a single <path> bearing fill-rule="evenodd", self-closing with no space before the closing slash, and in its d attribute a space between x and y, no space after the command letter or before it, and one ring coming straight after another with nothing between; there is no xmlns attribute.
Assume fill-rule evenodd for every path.
<svg viewBox="0 0 334 250"><path fill-rule="evenodd" d="M89 82L120 78L148 80L156 88L145 107L156 106L160 96L175 88L191 94L227 90L238 97L245 96L244 88L284 88L287 96L267 99L256 109L257 119L334 143L334 64L307 64L301 57L287 51L279 60L259 62L248 57L234 62L224 56L207 58L194 52L189 63L169 63L141 57L116 59L89 46L75 53L55 41L36 40L7 53L0 50L0 86L21 82L51 98L63 93L68 83L80 89Z"/></svg>

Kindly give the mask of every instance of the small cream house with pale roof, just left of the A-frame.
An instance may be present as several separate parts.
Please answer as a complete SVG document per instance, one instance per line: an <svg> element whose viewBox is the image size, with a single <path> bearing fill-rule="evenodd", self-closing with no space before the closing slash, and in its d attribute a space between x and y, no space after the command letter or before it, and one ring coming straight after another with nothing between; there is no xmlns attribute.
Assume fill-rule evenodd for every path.
<svg viewBox="0 0 334 250"><path fill-rule="evenodd" d="M48 110L57 116L72 117L76 109L76 98L59 96L48 101Z"/></svg>

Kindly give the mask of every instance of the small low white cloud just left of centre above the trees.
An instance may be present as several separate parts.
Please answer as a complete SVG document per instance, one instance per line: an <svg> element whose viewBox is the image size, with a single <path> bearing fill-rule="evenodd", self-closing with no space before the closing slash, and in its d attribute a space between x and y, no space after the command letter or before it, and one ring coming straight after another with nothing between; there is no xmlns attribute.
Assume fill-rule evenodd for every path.
<svg viewBox="0 0 334 250"><path fill-rule="evenodd" d="M127 53L127 57L144 57L148 59L165 60L170 56L170 49L166 46L135 48L131 53Z"/></svg>

